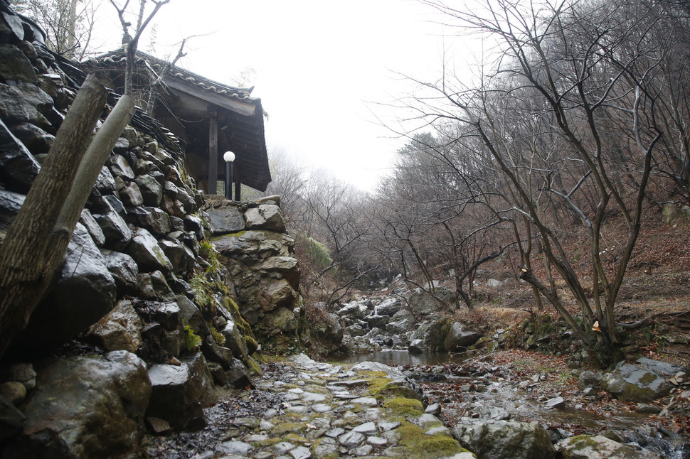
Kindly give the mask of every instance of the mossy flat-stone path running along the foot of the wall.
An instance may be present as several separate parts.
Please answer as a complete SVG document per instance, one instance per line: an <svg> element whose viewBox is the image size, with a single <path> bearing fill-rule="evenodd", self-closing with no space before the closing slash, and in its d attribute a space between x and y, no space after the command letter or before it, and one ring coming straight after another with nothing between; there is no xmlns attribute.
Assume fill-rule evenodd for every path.
<svg viewBox="0 0 690 459"><path fill-rule="evenodd" d="M192 434L159 438L175 444L149 447L149 455L171 458L174 450L179 458L202 459L474 458L421 401L401 396L414 391L397 369L373 362L329 365L305 355L278 368L245 393L251 401L223 400L222 413L208 416L206 441L198 440L204 432L196 443Z"/></svg>

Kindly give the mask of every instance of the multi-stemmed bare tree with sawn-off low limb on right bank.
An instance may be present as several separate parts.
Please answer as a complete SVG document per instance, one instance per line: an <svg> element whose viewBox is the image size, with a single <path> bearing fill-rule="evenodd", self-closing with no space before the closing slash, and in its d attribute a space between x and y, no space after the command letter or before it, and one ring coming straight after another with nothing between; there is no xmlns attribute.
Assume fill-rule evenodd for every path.
<svg viewBox="0 0 690 459"><path fill-rule="evenodd" d="M487 1L483 11L423 2L442 11L450 25L494 40L501 54L478 87L457 81L451 85L449 75L438 84L427 83L439 97L423 101L418 106L420 116L435 122L452 119L473 130L484 153L501 171L504 195L511 199L514 214L524 219L516 239L529 243L538 239L580 306L585 325L575 320L555 289L534 274L529 265L534 254L525 247L521 278L553 304L579 338L592 342L591 330L599 328L600 342L615 345L615 301L639 234L652 153L662 136L644 112L655 102L647 84L658 64L649 58L655 48L647 40L654 19L638 14L639 9L625 0L555 6ZM525 120L539 123L526 130ZM538 146L532 140L535 136L546 139L546 146L553 136L561 139L558 148L566 159L569 180L561 167L540 169L529 162L524 151L529 151L530 142ZM586 199L585 190L595 200ZM587 229L591 258L587 274L594 279L591 301L572 254L539 204L544 195L569 207ZM612 212L625 221L627 238L615 247L603 247ZM615 252L612 266L603 259L605 249Z"/></svg>

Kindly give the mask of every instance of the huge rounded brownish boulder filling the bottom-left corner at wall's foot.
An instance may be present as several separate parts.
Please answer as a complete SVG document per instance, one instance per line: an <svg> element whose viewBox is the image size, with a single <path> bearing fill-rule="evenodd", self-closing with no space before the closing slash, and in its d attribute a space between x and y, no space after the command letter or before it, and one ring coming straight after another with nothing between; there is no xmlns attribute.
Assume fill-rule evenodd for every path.
<svg viewBox="0 0 690 459"><path fill-rule="evenodd" d="M22 434L3 458L131 458L150 395L144 362L130 352L48 362L23 407Z"/></svg>

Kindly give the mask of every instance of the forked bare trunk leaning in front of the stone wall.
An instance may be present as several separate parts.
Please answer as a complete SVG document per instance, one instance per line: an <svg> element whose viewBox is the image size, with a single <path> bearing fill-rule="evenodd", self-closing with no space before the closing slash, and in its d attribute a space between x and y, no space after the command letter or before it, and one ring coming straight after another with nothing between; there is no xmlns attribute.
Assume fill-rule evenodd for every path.
<svg viewBox="0 0 690 459"><path fill-rule="evenodd" d="M123 96L87 148L106 98L105 87L87 77L0 245L0 357L62 266L98 174L132 119L134 104Z"/></svg>

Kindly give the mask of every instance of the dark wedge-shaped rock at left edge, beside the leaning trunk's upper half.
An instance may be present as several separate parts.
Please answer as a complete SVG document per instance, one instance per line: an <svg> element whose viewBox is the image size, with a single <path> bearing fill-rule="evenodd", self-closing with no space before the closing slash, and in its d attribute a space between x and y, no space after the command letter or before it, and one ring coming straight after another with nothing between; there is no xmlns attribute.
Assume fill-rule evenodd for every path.
<svg viewBox="0 0 690 459"><path fill-rule="evenodd" d="M41 166L0 119L0 183L19 193L28 193Z"/></svg>

